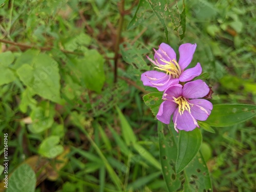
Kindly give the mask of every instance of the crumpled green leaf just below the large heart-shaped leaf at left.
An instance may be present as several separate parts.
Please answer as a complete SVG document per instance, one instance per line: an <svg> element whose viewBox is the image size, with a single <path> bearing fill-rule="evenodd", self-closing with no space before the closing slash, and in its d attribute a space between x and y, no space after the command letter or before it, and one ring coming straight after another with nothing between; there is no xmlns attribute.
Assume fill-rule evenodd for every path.
<svg viewBox="0 0 256 192"><path fill-rule="evenodd" d="M49 129L54 122L54 114L54 106L49 102L42 102L40 106L34 108L30 114L33 123L29 125L29 131L32 133L40 133Z"/></svg>

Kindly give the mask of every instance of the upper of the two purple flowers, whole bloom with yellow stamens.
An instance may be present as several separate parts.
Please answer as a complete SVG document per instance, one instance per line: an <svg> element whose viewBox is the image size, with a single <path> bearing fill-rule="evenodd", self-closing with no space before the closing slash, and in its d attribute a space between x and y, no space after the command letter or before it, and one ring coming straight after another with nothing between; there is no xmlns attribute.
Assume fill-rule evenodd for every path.
<svg viewBox="0 0 256 192"><path fill-rule="evenodd" d="M155 51L155 61L148 58L157 67L163 71L147 71L141 75L144 86L157 88L158 91L164 91L168 87L181 82L190 81L202 73L202 68L198 62L196 67L185 70L191 62L195 53L196 44L182 44L179 47L179 62L176 59L176 53L169 45L162 43L159 49Z"/></svg>

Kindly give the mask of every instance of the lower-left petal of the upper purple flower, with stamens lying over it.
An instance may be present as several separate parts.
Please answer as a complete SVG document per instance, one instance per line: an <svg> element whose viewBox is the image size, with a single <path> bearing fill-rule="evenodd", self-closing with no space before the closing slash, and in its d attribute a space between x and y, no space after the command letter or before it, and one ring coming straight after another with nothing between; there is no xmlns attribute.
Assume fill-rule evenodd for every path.
<svg viewBox="0 0 256 192"><path fill-rule="evenodd" d="M173 84L177 84L179 79L173 79L169 75L158 71L146 71L141 74L141 81L144 86L157 88L158 91L164 91Z"/></svg>

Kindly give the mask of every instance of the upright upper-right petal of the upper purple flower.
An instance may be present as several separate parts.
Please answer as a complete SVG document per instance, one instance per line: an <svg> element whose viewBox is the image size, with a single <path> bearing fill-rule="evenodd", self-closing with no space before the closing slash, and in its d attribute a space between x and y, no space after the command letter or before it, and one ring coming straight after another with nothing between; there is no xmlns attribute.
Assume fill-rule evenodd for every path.
<svg viewBox="0 0 256 192"><path fill-rule="evenodd" d="M196 51L196 48L197 44L182 44L179 47L179 65L181 70L184 70L189 65L189 63L193 59L193 55Z"/></svg>

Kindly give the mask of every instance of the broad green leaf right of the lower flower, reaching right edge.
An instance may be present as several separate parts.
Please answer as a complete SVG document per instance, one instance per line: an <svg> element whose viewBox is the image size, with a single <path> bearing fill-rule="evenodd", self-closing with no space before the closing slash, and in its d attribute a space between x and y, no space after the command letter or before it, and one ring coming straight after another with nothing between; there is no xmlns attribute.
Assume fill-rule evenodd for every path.
<svg viewBox="0 0 256 192"><path fill-rule="evenodd" d="M210 126L231 126L246 121L256 115L256 105L215 104L205 121Z"/></svg>

